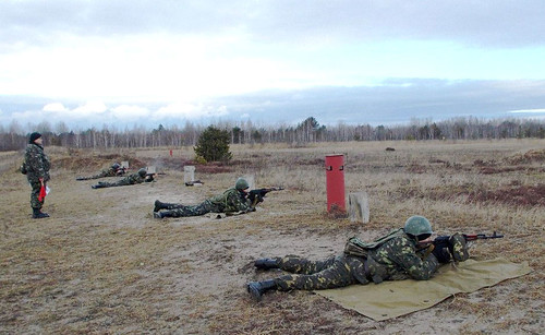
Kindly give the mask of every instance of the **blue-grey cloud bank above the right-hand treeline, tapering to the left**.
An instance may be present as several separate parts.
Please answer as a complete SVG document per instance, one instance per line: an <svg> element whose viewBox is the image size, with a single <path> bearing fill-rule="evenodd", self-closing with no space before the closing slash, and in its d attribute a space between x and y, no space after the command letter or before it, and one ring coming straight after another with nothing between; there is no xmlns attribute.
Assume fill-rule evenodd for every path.
<svg viewBox="0 0 545 335"><path fill-rule="evenodd" d="M510 110L545 105L545 81L386 80L375 86L312 87L267 91L218 98L230 115L250 115L252 121L296 123L315 117L322 124L409 122L412 118L507 118ZM296 97L296 98L293 98Z"/></svg>

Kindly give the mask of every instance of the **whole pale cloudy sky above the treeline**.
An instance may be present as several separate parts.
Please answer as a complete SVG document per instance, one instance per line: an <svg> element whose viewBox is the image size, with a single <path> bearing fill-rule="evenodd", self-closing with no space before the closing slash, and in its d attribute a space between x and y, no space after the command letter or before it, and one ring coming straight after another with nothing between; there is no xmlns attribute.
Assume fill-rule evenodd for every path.
<svg viewBox="0 0 545 335"><path fill-rule="evenodd" d="M0 124L545 117L543 0L0 1Z"/></svg>

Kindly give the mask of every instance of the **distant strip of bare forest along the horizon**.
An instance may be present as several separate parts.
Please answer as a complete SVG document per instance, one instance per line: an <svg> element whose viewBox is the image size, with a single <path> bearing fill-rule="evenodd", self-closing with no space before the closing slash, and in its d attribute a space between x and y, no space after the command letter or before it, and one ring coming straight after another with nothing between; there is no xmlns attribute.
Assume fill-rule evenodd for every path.
<svg viewBox="0 0 545 335"><path fill-rule="evenodd" d="M499 140L499 139L544 139L545 121L537 119L496 119L483 120L474 117L452 118L432 122L413 120L407 124L349 125L339 123L334 127L320 125L314 117L306 118L298 125L258 127L251 121L238 124L217 122L213 127L227 130L233 144L288 143L304 145L313 142L346 141L398 141L398 140ZM117 130L104 127L85 131L71 131L60 122L51 127L47 121L33 127L44 135L45 145L75 148L116 148L116 147L180 147L194 146L205 125L186 122L157 129L134 127ZM21 131L16 122L8 128L0 125L0 151L19 151L26 146L28 134Z"/></svg>

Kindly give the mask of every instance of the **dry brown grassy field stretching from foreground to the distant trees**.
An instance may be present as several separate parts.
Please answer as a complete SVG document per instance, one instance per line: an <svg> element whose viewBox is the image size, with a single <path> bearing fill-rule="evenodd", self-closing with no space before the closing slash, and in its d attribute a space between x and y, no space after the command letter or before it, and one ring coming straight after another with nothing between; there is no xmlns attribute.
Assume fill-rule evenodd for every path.
<svg viewBox="0 0 545 335"><path fill-rule="evenodd" d="M386 151L392 147L395 151ZM47 219L32 219L23 153L0 153L0 333L2 334L540 334L545 328L545 141L352 142L232 146L230 165L196 166L192 148L74 151L52 160ZM371 222L326 211L325 156L343 154L347 193L368 194ZM113 161L154 183L93 190L75 181ZM258 210L216 219L155 219L156 199L196 204L239 176L281 186ZM110 178L114 180L116 178ZM338 254L358 235L373 239L420 214L439 235L494 230L472 256L529 262L533 272L410 315L376 322L306 291L254 302L262 256ZM542 330L542 331L540 331Z"/></svg>

